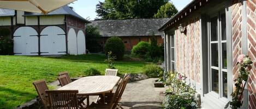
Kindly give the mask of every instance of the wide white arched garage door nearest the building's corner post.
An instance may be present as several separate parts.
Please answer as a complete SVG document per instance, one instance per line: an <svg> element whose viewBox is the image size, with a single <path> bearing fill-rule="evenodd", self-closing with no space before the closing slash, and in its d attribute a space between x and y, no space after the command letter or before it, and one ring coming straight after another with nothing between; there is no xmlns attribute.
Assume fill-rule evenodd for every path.
<svg viewBox="0 0 256 109"><path fill-rule="evenodd" d="M57 27L46 27L40 34L41 55L64 55L66 54L66 34Z"/></svg>

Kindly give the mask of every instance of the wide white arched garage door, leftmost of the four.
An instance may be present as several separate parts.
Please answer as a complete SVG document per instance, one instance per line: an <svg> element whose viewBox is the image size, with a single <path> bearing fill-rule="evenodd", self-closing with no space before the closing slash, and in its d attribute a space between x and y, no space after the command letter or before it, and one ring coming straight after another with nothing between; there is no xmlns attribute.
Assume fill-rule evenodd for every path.
<svg viewBox="0 0 256 109"><path fill-rule="evenodd" d="M32 27L20 27L14 32L15 55L38 55L38 33Z"/></svg>

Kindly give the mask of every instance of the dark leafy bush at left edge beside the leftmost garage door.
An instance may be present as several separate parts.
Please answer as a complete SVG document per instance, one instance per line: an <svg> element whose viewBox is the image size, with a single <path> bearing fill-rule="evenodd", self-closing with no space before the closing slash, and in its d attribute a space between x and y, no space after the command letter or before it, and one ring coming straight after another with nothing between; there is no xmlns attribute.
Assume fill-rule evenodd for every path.
<svg viewBox="0 0 256 109"><path fill-rule="evenodd" d="M9 29L0 29L0 55L13 54L13 40L9 39Z"/></svg>

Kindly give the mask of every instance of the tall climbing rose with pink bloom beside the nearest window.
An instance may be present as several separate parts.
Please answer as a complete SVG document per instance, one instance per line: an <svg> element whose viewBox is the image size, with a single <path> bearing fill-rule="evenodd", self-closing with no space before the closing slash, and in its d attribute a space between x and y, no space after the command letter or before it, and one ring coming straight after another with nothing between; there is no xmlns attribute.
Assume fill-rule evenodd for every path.
<svg viewBox="0 0 256 109"><path fill-rule="evenodd" d="M249 58L249 56L241 54L237 57L236 65L239 65L239 76L234 80L236 88L235 91L231 94L233 97L232 101L229 101L225 108L228 108L229 105L233 109L237 109L242 106L243 90L245 89L246 86L249 70L252 69L252 63L253 62Z"/></svg>

